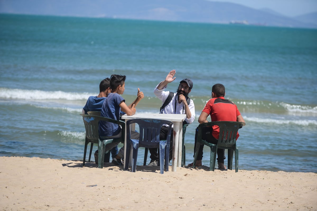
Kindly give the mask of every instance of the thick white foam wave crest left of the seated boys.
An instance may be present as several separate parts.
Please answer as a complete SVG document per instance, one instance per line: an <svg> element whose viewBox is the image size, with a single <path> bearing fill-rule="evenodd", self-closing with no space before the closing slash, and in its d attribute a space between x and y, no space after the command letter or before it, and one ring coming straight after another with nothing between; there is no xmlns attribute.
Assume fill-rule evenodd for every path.
<svg viewBox="0 0 317 211"><path fill-rule="evenodd" d="M63 91L42 91L0 88L0 98L2 99L22 99L22 100L87 100L91 93L76 93Z"/></svg>

